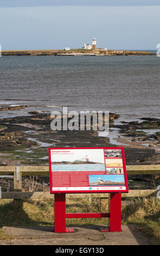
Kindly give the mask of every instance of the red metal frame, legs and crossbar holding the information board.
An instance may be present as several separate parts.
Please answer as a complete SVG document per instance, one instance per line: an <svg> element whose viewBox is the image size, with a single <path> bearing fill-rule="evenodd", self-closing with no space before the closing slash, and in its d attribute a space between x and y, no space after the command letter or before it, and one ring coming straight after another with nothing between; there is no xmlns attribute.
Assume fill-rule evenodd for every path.
<svg viewBox="0 0 160 256"><path fill-rule="evenodd" d="M109 193L109 211L108 213L66 213L66 193L91 193L91 191L52 191L52 164L50 151L52 149L66 149L66 148L49 148L49 175L50 175L50 193L55 194L55 207L54 207L54 231L55 233L66 233L74 232L73 228L66 228L66 218L109 218L108 227L100 228L100 231L121 231L121 193L129 192L127 184L127 174L125 165L125 155L124 148L67 148L67 149L121 149L123 168L124 168L124 178L126 190L122 191L97 191L92 190L92 193Z"/></svg>

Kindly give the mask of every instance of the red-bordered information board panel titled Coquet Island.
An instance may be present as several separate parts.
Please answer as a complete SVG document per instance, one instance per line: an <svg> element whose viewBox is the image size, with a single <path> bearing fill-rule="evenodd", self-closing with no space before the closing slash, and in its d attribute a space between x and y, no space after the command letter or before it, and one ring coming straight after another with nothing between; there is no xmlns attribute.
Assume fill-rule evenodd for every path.
<svg viewBox="0 0 160 256"><path fill-rule="evenodd" d="M50 193L128 192L124 148L49 148Z"/></svg>

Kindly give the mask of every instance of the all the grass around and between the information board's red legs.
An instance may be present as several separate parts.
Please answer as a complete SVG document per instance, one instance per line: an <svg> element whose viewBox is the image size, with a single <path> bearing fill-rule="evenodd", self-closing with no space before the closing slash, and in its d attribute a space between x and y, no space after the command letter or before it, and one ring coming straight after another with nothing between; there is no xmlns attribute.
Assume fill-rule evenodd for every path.
<svg viewBox="0 0 160 256"><path fill-rule="evenodd" d="M13 225L53 225L54 202L52 199L24 200L22 206L12 203L11 199L0 201L0 223ZM160 202L157 198L132 199L133 204L122 206L122 224L135 224L150 239L151 245L160 245ZM66 212L108 212L108 205L100 199L67 199ZM107 224L107 218L67 219L66 225ZM0 240L14 239L0 229Z"/></svg>

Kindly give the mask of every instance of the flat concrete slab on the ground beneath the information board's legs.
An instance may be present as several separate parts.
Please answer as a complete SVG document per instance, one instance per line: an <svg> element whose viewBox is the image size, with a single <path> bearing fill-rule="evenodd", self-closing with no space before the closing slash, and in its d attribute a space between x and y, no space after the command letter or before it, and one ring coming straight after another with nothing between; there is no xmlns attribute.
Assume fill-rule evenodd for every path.
<svg viewBox="0 0 160 256"><path fill-rule="evenodd" d="M100 232L100 225L75 227L75 233L54 233L53 226L3 227L13 240L0 245L149 245L135 225L122 225L121 232Z"/></svg>

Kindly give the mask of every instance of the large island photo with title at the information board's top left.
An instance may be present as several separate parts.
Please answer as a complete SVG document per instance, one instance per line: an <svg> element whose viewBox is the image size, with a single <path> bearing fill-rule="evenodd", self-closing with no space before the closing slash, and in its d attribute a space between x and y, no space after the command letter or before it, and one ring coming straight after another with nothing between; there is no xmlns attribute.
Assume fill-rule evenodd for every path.
<svg viewBox="0 0 160 256"><path fill-rule="evenodd" d="M52 172L104 171L103 149L51 150Z"/></svg>

